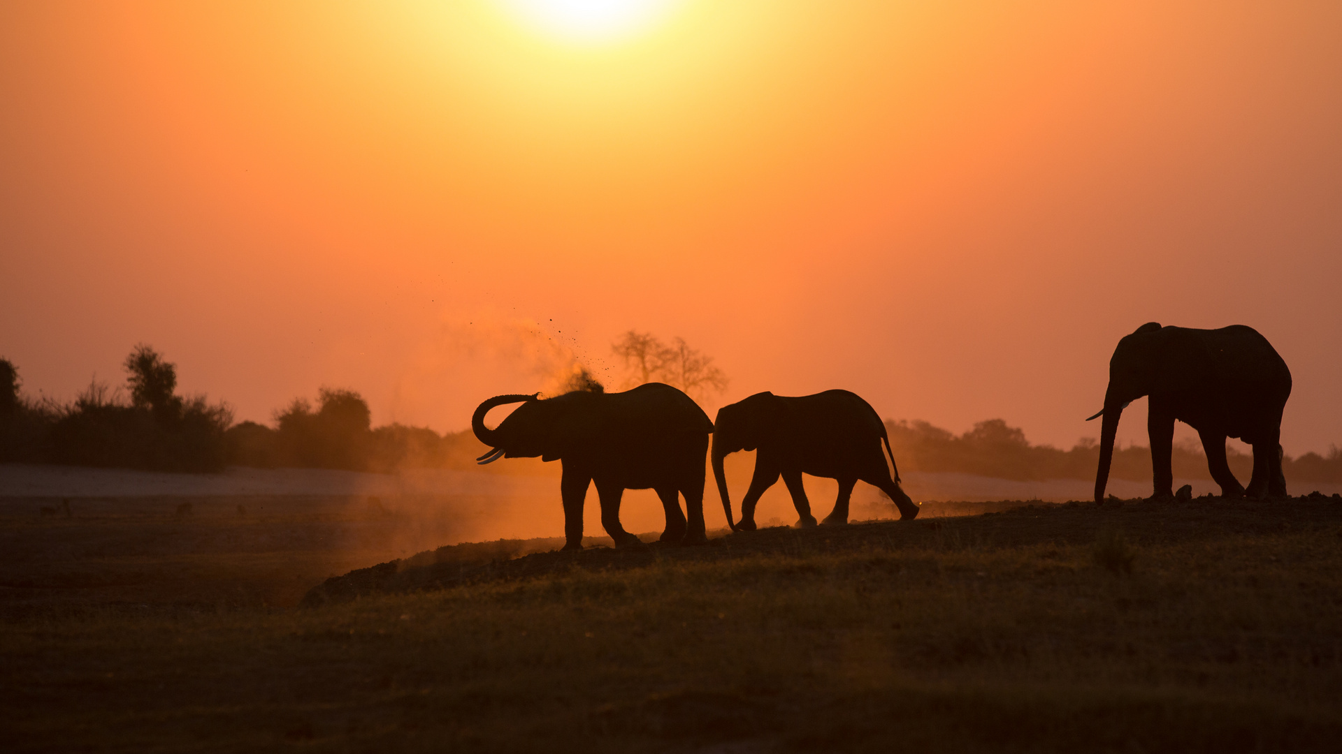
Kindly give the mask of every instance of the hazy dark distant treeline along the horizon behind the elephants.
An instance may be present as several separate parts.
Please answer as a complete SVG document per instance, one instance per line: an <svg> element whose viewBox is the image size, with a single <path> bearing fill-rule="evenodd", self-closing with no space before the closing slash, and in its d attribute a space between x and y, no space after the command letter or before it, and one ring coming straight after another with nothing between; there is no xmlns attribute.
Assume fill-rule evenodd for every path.
<svg viewBox="0 0 1342 754"><path fill-rule="evenodd" d="M348 389L322 388L313 404L295 398L275 412L272 425L232 423L225 404L176 394L177 373L149 346L126 357L126 388L93 384L70 404L20 396L19 373L0 360L0 462L62 463L156 471L262 468L479 470L482 445L470 431L439 435L425 427L372 427L368 402ZM1096 441L1071 449L1032 445L1001 419L956 435L926 421L887 421L900 471L951 471L998 479L1094 479ZM1253 459L1227 448L1231 470L1248 482ZM483 467L493 474L556 472L537 459ZM1176 444L1174 476L1210 479L1201 445ZM1287 456L1287 483L1342 482L1342 451ZM1149 480L1151 453L1141 445L1115 448L1111 476Z"/></svg>

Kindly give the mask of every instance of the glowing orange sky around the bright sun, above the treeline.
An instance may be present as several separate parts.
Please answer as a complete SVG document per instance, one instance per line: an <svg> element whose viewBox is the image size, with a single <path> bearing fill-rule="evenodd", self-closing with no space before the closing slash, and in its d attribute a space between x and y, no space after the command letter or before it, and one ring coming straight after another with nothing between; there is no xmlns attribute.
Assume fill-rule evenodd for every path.
<svg viewBox="0 0 1342 754"><path fill-rule="evenodd" d="M1333 3L686 0L596 47L497 0L5 3L0 356L67 398L144 341L239 419L325 384L447 431L542 386L527 322L599 374L637 327L723 401L1070 445L1119 337L1245 323L1326 451L1339 39Z"/></svg>

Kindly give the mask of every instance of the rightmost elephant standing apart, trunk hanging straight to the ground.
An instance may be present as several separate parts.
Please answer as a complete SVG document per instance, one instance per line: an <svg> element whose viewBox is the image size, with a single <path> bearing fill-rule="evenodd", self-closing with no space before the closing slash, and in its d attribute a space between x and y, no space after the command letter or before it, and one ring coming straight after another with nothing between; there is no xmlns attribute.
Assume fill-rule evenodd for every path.
<svg viewBox="0 0 1342 754"><path fill-rule="evenodd" d="M1212 479L1223 496L1286 496L1282 474L1282 411L1291 396L1291 370L1257 330L1231 325L1219 330L1161 327L1147 322L1126 335L1108 362L1095 502L1104 498L1114 459L1114 435L1127 404L1149 396L1153 499L1170 496L1174 420L1197 429ZM1225 463L1225 439L1253 445L1253 478L1240 486Z"/></svg>

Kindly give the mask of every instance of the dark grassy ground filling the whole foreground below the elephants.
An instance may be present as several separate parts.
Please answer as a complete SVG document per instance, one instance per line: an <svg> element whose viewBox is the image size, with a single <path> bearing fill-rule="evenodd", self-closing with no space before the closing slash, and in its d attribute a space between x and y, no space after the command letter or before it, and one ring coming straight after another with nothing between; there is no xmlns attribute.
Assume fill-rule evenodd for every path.
<svg viewBox="0 0 1342 754"><path fill-rule="evenodd" d="M4 518L5 750L1342 741L1330 498L929 508L691 549L495 542L325 584L389 561L404 525L311 504L268 522ZM293 606L305 593L315 606Z"/></svg>

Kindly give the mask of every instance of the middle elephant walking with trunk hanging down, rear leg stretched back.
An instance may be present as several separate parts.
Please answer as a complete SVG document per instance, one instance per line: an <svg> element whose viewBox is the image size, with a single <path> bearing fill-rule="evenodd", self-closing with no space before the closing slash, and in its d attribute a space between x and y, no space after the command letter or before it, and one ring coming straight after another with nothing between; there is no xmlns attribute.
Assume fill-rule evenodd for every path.
<svg viewBox="0 0 1342 754"><path fill-rule="evenodd" d="M824 523L848 523L848 500L854 484L863 480L890 495L900 518L918 515L918 506L899 487L899 467L890 452L886 425L871 404L848 390L825 390L813 396L785 397L756 393L739 402L722 407L713 429L713 474L718 495L733 531L756 529L754 507L760 495L782 476L792 504L797 508L798 526L815 526L811 503L801 484L801 475L828 476L839 482L839 498ZM890 466L880 452L884 440ZM722 459L737 451L754 451L754 478L741 500L741 522L731 521L731 498Z"/></svg>

